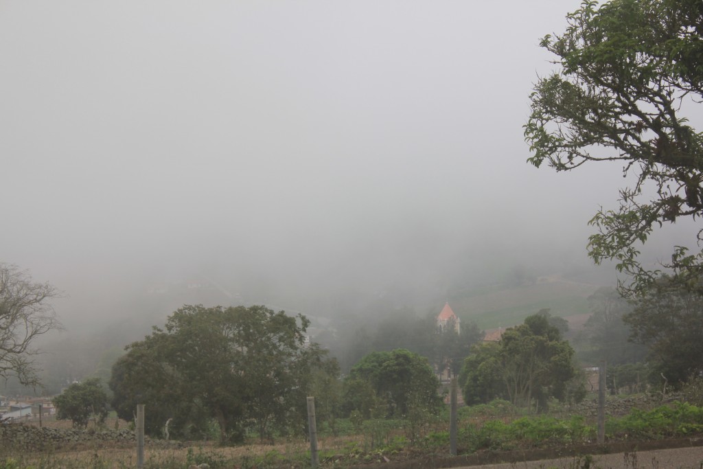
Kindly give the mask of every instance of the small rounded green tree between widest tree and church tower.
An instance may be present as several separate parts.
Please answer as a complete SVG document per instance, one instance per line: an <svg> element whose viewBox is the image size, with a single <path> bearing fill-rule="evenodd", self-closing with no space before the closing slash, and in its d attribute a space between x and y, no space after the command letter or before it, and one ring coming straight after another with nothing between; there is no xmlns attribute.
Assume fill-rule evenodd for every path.
<svg viewBox="0 0 703 469"><path fill-rule="evenodd" d="M359 408L359 404L377 404L380 399L387 409L387 417L403 417L411 403L436 412L441 406L439 380L423 356L406 349L391 352L371 352L352 367L347 380L347 397L354 397L357 407L351 410L369 416L372 409ZM373 391L369 393L368 390ZM363 399L359 399L363 396ZM347 406L349 410L349 406Z"/></svg>

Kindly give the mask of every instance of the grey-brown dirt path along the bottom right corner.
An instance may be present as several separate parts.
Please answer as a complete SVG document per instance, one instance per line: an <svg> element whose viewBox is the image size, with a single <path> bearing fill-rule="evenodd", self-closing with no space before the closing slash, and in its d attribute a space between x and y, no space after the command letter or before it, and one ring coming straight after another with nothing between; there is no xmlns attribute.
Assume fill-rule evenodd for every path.
<svg viewBox="0 0 703 469"><path fill-rule="evenodd" d="M703 468L703 447L600 454L591 456L590 465L586 465L586 458L583 456L569 456L543 461L472 465L458 469L585 469L589 467L591 469L701 469Z"/></svg>

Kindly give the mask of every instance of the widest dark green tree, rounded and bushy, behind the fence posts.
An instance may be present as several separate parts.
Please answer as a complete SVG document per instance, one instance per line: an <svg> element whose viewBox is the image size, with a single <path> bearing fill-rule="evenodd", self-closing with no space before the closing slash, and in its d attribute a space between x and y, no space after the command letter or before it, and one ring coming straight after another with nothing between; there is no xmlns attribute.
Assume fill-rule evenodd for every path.
<svg viewBox="0 0 703 469"><path fill-rule="evenodd" d="M174 418L181 435L212 418L221 442L241 439L248 423L262 439L274 423L302 428L311 373L325 354L307 343L308 326L302 315L263 306L184 306L112 368L118 415L131 418L136 404L147 404L161 419L147 428Z"/></svg>

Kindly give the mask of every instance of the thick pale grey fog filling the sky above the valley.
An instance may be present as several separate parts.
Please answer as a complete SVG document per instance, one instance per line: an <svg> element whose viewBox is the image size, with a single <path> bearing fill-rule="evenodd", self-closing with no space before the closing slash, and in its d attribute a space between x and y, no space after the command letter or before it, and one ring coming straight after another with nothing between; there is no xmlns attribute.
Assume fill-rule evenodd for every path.
<svg viewBox="0 0 703 469"><path fill-rule="evenodd" d="M69 329L194 279L322 316L516 266L612 281L585 246L619 168L536 169L522 136L579 4L2 1L0 260Z"/></svg>

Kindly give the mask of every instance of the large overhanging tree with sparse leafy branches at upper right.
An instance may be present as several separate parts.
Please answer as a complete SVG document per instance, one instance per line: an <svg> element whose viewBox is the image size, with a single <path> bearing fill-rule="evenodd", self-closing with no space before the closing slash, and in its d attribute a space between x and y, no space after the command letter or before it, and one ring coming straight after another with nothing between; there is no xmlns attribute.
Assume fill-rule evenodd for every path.
<svg viewBox="0 0 703 469"><path fill-rule="evenodd" d="M562 35L541 41L559 70L539 79L530 96L528 161L557 172L620 162L633 184L620 189L617 210L591 219L598 233L589 238L589 256L617 261L631 276L620 284L626 295L645 291L662 269L703 292L703 251L676 246L662 269L639 260L639 245L654 229L703 213L703 135L686 117L703 99L703 4L586 0L567 21Z"/></svg>

